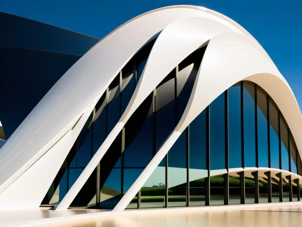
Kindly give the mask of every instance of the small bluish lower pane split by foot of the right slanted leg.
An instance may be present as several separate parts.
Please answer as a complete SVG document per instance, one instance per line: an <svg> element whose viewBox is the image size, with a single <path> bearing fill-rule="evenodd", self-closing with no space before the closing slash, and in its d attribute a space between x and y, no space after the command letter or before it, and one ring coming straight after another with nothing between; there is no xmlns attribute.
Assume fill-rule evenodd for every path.
<svg viewBox="0 0 302 227"><path fill-rule="evenodd" d="M125 194L135 180L140 176L144 169L124 169L124 186L123 194ZM126 209L137 208L137 196L129 203Z"/></svg>

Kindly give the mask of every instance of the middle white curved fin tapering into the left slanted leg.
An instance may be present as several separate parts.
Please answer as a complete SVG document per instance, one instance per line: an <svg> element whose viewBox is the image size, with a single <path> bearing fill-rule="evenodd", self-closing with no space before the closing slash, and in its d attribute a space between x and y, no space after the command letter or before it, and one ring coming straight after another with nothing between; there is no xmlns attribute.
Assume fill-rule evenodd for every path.
<svg viewBox="0 0 302 227"><path fill-rule="evenodd" d="M69 207L130 116L176 65L205 45L213 36L228 31L231 29L227 26L201 17L179 19L163 29L153 45L143 74L119 123L105 139L56 210ZM165 61L166 59L169 61Z"/></svg>

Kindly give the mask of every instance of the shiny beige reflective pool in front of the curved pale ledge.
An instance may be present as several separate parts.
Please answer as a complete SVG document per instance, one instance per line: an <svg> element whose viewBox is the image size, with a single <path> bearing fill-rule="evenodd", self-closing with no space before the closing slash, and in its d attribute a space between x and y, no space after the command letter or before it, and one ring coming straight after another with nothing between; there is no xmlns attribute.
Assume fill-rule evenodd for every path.
<svg viewBox="0 0 302 227"><path fill-rule="evenodd" d="M53 227L300 227L302 205L242 208L232 211L177 212L153 215L120 215L91 222Z"/></svg>

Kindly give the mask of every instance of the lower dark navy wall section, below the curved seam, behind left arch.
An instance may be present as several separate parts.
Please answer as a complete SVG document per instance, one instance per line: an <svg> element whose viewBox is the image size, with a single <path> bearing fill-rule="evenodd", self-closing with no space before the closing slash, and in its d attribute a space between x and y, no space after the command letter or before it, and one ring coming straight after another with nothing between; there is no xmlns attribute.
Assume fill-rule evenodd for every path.
<svg viewBox="0 0 302 227"><path fill-rule="evenodd" d="M0 97L7 97L0 100L0 120L6 139L79 58L50 51L0 48L0 83L5 85Z"/></svg>

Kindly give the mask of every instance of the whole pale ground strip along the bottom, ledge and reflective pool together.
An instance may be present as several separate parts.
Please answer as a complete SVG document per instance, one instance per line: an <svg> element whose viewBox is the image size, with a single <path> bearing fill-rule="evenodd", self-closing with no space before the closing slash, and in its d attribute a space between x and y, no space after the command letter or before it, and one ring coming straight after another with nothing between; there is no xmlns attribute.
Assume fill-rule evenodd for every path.
<svg viewBox="0 0 302 227"><path fill-rule="evenodd" d="M254 212L254 213L252 213ZM289 216L293 216L289 218ZM191 217L201 217L191 223ZM281 216L284 216L282 219ZM207 220L208 217L211 219ZM229 217L224 219L222 217ZM230 218L232 217L232 218ZM250 217L250 218L249 218ZM259 217L262 217L261 219ZM169 220L163 221L163 220ZM278 221L276 221L278 220ZM299 222L298 222L299 221ZM120 212L94 209L53 211L48 208L0 211L0 227L195 227L195 226L300 226L302 202L276 202L227 206L134 209ZM260 224L261 225L260 225ZM273 225L273 223L275 223ZM281 224L283 223L283 224ZM198 224L198 225L197 225Z"/></svg>

